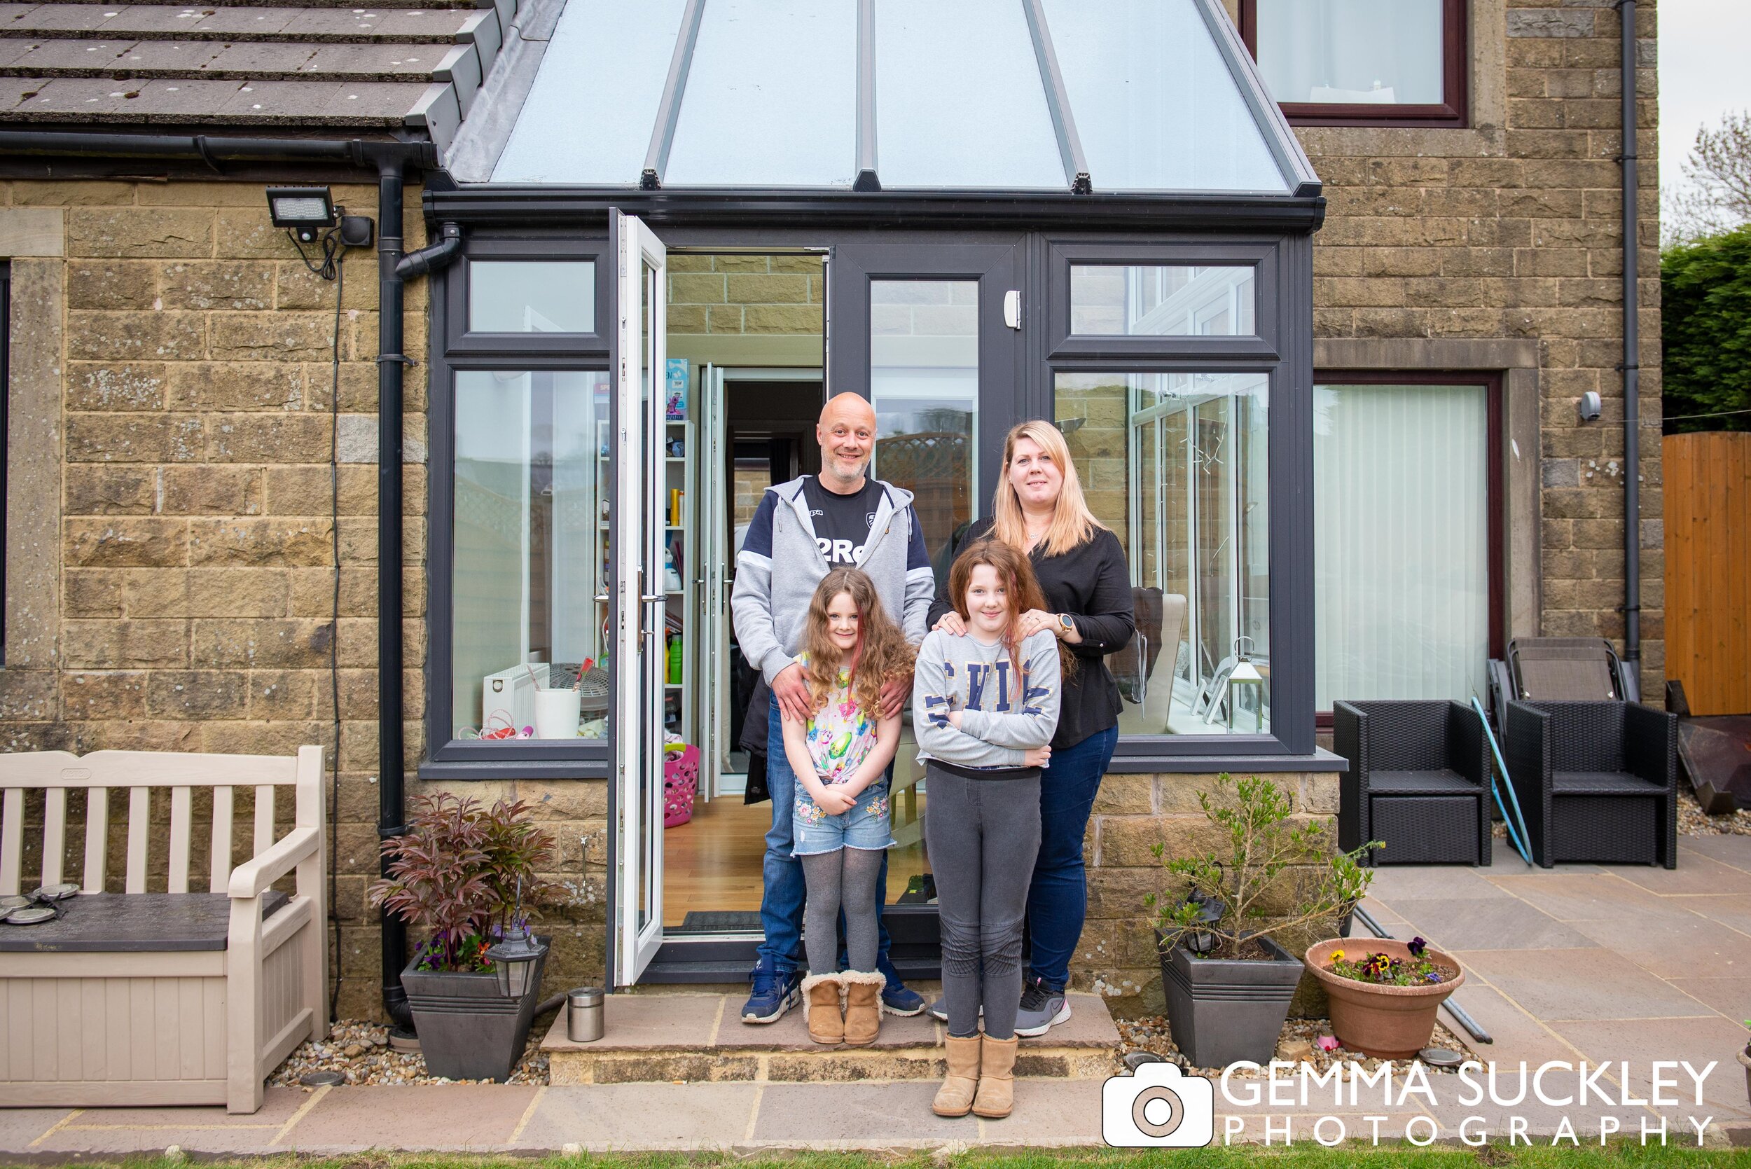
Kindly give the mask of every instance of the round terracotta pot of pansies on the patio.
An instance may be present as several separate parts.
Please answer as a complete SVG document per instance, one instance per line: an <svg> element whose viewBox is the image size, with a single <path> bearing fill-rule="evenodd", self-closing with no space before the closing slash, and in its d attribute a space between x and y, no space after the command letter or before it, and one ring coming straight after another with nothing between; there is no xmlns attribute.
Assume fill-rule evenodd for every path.
<svg viewBox="0 0 1751 1169"><path fill-rule="evenodd" d="M1352 1052L1410 1059L1429 1046L1434 1013L1466 980L1459 961L1422 938L1333 938L1306 952L1331 999L1331 1029Z"/></svg>

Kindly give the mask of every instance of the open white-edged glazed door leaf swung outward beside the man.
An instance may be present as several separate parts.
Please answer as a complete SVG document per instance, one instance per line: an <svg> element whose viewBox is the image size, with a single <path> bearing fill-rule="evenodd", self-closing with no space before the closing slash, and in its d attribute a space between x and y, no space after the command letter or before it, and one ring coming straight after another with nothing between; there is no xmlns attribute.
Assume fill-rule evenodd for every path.
<svg viewBox="0 0 1751 1169"><path fill-rule="evenodd" d="M669 500L667 252L632 215L618 245L615 369L615 985L639 980L662 945L664 537Z"/></svg>

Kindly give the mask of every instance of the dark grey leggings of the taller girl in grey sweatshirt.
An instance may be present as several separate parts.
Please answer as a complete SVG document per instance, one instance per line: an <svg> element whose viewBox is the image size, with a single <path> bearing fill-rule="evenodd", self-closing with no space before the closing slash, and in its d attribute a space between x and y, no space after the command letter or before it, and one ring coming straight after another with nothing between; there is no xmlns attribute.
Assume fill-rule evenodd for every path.
<svg viewBox="0 0 1751 1169"><path fill-rule="evenodd" d="M949 1034L1016 1034L1021 922L1040 852L1040 779L961 779L925 772L925 842L942 920L942 998Z"/></svg>

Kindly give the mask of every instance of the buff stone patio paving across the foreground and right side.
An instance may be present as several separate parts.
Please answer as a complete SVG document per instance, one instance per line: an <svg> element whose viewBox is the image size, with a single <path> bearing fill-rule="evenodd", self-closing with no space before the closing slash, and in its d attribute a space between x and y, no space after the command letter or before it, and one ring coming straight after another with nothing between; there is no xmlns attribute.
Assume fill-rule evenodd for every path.
<svg viewBox="0 0 1751 1169"><path fill-rule="evenodd" d="M1427 1124L1452 1139L1466 1116L1480 1116L1497 1139L1509 1116L1548 1143L1564 1118L1581 1139L1600 1127L1634 1138L1663 1120L1674 1143L1695 1136L1690 1116L1712 1116L1709 1141L1751 1144L1751 1104L1744 1069L1733 1059L1751 1015L1751 836L1679 838L1679 868L1637 870L1569 864L1529 870L1497 842L1490 868L1376 870L1366 906L1399 938L1420 933L1459 956L1467 982L1455 994L1492 1036L1476 1045L1497 1066L1497 1087L1511 1101L1529 1087L1532 1069L1557 1060L1609 1062L1599 1083L1613 1104L1553 1106L1536 1099L1464 1104L1459 1078L1432 1076L1439 1099L1404 1097L1394 1108L1376 1099L1331 1104L1326 1096L1294 1106L1231 1104L1217 1096L1217 1139L1229 1124L1234 1139L1261 1141L1266 1120L1273 1143L1289 1125L1297 1144L1313 1139L1322 1116L1343 1122L1350 1139L1396 1139ZM1361 933L1361 931L1359 931ZM678 996L672 1010L648 1003L615 1029L618 1045L662 1045L679 1036L730 1055L748 1045L786 1048L800 1040L800 1022L755 1032L725 1018L721 994ZM1453 1018L1443 1022L1459 1031ZM891 1031L890 1031L891 1029ZM932 1027L890 1020L893 1043L916 1043ZM1056 1034L1056 1032L1054 1032ZM709 1038L707 1038L709 1036ZM1522 1078L1520 1064L1529 1073ZM1649 1097L1651 1060L1716 1066L1704 1080L1702 1104L1681 1068L1679 1106L1623 1102ZM1625 1068L1627 1062L1627 1068ZM1488 1083L1485 1076L1476 1076ZM1574 1074L1551 1074L1546 1088L1576 1090ZM1017 1111L1009 1120L942 1120L930 1113L935 1085L919 1080L784 1083L762 1073L727 1083L601 1085L424 1085L268 1088L254 1116L221 1108L5 1110L0 1108L0 1157L33 1160L56 1155L186 1153L348 1153L378 1150L510 1150L518 1153L580 1150L704 1148L935 1148L967 1144L1100 1144L1100 1080L1023 1078ZM1418 1115L1429 1122L1413 1120ZM1233 1118L1233 1120L1229 1120ZM1326 1122L1326 1136L1336 1122ZM1614 1125L1614 1129L1613 1129Z"/></svg>

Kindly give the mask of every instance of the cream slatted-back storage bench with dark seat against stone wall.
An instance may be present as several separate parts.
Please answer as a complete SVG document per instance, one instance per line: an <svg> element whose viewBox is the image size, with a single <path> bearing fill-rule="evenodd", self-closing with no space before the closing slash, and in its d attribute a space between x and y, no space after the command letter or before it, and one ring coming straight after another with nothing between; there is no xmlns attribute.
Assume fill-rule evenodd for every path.
<svg viewBox="0 0 1751 1169"><path fill-rule="evenodd" d="M233 868L236 789L252 791L254 856ZM39 887L23 878L37 852L26 850L26 812L35 836L39 807L40 884L63 880L77 850L68 791L84 793L82 891L60 901L60 920L0 922L0 1102L254 1113L285 1054L327 1036L322 749L299 747L294 758L0 754L0 896ZM275 796L284 794L292 828L275 840ZM110 808L123 796L124 891L105 892ZM208 892L191 892L189 858L203 828ZM294 896L270 887L294 870ZM147 892L149 872L165 892Z"/></svg>

